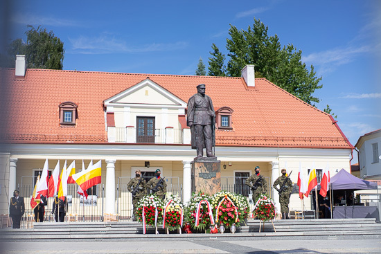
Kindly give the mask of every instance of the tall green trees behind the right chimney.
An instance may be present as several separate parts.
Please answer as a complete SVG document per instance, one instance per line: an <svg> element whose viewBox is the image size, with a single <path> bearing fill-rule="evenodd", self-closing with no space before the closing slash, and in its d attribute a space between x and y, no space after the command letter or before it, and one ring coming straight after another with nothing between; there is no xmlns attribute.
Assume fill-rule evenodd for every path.
<svg viewBox="0 0 381 254"><path fill-rule="evenodd" d="M231 25L230 25L231 26ZM267 35L268 27L254 18L254 25L247 30L238 30L235 26L229 28L230 38L227 39L227 62L224 70L224 55L215 44L209 57L209 75L224 74L240 77L241 70L247 64L254 64L256 78L266 78L278 87L292 93L297 98L314 106L319 98L313 96L316 89L321 89L321 77L316 76L314 66L307 68L301 62L301 51L292 44L281 46L277 35ZM214 66L211 64L215 64Z"/></svg>

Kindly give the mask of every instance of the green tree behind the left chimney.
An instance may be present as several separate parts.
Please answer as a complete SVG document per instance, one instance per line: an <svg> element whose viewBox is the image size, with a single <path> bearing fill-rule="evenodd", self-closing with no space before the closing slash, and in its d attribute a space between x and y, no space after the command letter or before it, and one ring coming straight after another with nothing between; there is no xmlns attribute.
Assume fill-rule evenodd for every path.
<svg viewBox="0 0 381 254"><path fill-rule="evenodd" d="M27 26L26 43L22 39L10 42L6 55L1 55L2 66L15 67L16 55L26 55L27 67L31 69L62 70L64 61L64 43L51 30L39 26Z"/></svg>

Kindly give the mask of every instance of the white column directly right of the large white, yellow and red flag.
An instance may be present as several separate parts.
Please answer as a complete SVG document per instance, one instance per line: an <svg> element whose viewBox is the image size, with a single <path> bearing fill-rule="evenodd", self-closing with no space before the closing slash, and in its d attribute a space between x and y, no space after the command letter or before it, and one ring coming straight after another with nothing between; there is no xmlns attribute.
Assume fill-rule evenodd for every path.
<svg viewBox="0 0 381 254"><path fill-rule="evenodd" d="M105 213L115 213L115 159L106 160L106 208Z"/></svg>

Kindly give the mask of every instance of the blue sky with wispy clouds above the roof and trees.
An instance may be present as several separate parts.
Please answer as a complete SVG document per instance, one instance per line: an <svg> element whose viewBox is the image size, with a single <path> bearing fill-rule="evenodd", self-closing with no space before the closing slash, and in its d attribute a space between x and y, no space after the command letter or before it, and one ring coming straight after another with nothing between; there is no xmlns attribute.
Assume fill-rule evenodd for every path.
<svg viewBox="0 0 381 254"><path fill-rule="evenodd" d="M294 44L324 85L317 107L330 105L355 145L381 128L381 1L10 1L10 39L42 25L64 42L64 69L194 75L212 43L227 54L229 24L254 17ZM357 155L353 163L357 162Z"/></svg>

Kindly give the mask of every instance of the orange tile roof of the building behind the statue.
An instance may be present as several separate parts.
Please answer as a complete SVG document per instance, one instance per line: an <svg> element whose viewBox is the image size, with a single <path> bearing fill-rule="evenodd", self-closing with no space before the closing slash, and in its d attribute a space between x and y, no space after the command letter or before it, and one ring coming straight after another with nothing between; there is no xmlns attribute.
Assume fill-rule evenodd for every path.
<svg viewBox="0 0 381 254"><path fill-rule="evenodd" d="M231 107L232 130L217 130L217 145L352 149L328 114L263 78L247 88L242 78L1 69L0 135L12 142L107 143L103 101L145 80L156 82L185 102L206 84L215 108ZM78 105L76 127L60 127L60 103Z"/></svg>

